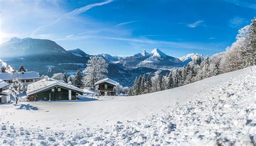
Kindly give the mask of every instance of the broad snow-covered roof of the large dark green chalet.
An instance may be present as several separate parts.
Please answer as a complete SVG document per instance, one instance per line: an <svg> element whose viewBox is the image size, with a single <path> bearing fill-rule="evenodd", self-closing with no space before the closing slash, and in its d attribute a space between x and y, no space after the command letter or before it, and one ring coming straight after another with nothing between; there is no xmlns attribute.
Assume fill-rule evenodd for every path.
<svg viewBox="0 0 256 146"><path fill-rule="evenodd" d="M82 89L79 89L78 87L73 86L71 84L65 83L64 81L59 81L59 80L52 79L52 78L44 78L44 79L41 79L40 81L29 84L26 94L29 96L31 94L35 94L35 93L38 93L38 92L41 92L44 90L48 90L51 87L55 87L55 86L64 87L65 89L77 91L80 93L84 92Z"/></svg>

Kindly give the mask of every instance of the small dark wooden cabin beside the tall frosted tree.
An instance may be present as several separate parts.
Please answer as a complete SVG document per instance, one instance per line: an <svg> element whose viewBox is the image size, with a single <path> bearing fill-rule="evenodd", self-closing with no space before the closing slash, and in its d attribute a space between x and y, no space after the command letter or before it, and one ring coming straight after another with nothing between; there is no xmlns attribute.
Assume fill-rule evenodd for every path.
<svg viewBox="0 0 256 146"><path fill-rule="evenodd" d="M117 82L113 79L105 78L95 83L99 90L99 96L116 96Z"/></svg>

